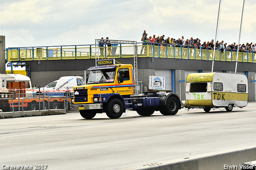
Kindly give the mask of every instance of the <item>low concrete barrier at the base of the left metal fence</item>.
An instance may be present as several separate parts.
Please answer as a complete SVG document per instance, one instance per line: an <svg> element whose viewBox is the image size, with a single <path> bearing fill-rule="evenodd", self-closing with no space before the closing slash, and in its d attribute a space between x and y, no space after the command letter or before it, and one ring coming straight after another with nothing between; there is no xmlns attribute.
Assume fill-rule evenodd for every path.
<svg viewBox="0 0 256 170"><path fill-rule="evenodd" d="M63 115L66 114L66 109L53 109L41 111L20 111L20 112L3 112L0 113L0 119L15 118L15 117L28 117L28 116L46 116L46 115Z"/></svg>

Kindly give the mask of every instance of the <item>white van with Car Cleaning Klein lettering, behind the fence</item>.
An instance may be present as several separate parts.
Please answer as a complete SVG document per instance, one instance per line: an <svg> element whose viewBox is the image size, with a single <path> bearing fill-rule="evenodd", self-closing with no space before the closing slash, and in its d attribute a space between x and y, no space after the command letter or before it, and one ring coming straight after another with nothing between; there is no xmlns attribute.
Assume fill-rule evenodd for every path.
<svg viewBox="0 0 256 170"><path fill-rule="evenodd" d="M66 96L67 89L69 91L68 95L71 97L73 95L73 87L85 85L84 78L81 76L64 76L60 79L52 81L45 87L40 88L40 92L48 96ZM33 95L38 95L39 89L33 91Z"/></svg>

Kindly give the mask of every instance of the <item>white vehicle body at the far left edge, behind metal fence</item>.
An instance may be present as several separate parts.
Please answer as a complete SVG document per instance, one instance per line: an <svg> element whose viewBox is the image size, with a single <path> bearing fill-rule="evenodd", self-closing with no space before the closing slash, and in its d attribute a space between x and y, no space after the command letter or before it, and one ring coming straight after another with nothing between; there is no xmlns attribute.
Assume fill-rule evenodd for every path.
<svg viewBox="0 0 256 170"><path fill-rule="evenodd" d="M2 84L0 85L1 91L8 91L9 82L19 81L25 82L26 85L26 97L32 97L32 85L31 80L28 76L22 74L0 74Z"/></svg>

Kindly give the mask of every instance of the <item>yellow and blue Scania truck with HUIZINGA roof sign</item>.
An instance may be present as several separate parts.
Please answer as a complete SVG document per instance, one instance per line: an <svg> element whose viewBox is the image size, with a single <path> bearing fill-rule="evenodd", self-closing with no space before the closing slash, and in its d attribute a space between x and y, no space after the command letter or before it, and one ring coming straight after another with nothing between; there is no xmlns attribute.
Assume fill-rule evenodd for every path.
<svg viewBox="0 0 256 170"><path fill-rule="evenodd" d="M106 113L118 119L128 110L150 116L154 111L162 115L175 115L181 109L176 93L144 91L135 95L134 70L131 64L115 64L114 59L98 60L90 71L86 85L74 87L74 105L80 115L92 119L96 113Z"/></svg>

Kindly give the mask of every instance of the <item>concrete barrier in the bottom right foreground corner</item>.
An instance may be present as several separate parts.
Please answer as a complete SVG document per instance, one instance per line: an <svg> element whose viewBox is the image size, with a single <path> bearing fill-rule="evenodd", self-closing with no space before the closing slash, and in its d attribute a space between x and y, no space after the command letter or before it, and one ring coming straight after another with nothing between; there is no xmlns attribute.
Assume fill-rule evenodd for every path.
<svg viewBox="0 0 256 170"><path fill-rule="evenodd" d="M256 145L161 163L150 163L128 170L240 170L244 162L254 160L256 160Z"/></svg>

